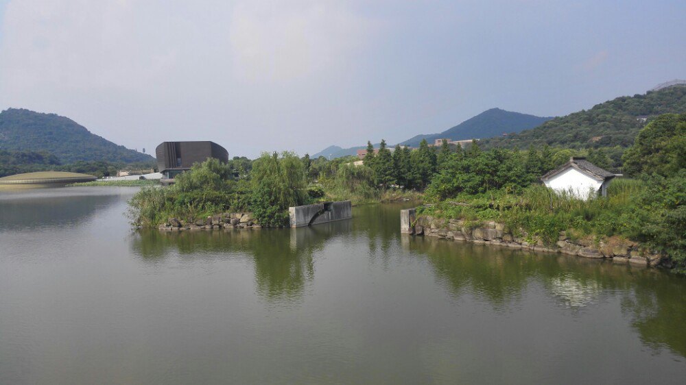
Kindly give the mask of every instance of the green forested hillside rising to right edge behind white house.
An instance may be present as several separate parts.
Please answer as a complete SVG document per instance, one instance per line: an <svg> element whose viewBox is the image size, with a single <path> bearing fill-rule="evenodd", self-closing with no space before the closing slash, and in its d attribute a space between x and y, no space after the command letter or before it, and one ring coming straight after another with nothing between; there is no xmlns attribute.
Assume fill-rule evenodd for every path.
<svg viewBox="0 0 686 385"><path fill-rule="evenodd" d="M639 130L659 114L686 112L686 86L674 84L632 97L618 97L591 110L560 116L519 134L482 140L482 147L543 145L580 148L629 147Z"/></svg>

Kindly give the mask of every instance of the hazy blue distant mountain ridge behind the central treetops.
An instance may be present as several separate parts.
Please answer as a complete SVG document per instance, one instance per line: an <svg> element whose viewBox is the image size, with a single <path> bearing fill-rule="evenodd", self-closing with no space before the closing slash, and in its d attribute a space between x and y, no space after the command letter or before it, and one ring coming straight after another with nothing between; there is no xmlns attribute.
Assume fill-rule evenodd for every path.
<svg viewBox="0 0 686 385"><path fill-rule="evenodd" d="M524 129L530 129L543 124L545 121L553 119L552 117L534 116L530 114L522 114L520 112L511 112L501 110L500 108L491 108L481 114L473 116L466 121L451 127L440 134L419 134L403 142L399 145L418 147L419 143L426 139L427 142L433 143L436 139L447 138L451 140L469 140L482 139L499 136L502 134L511 134L521 132ZM375 145L376 147L377 145ZM343 149L338 146L329 146L326 149L314 154L312 158L324 156L327 158L340 158L342 156L355 155L358 149L365 149L366 145L358 147L350 147Z"/></svg>

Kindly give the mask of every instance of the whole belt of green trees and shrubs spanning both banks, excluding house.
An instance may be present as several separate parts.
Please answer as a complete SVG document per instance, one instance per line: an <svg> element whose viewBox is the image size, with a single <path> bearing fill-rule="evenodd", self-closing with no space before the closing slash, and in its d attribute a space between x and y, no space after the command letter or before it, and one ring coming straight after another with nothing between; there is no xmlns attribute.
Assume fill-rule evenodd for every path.
<svg viewBox="0 0 686 385"><path fill-rule="evenodd" d="M619 237L668 256L686 273L686 169L684 115L655 117L626 151L635 179L616 179L608 197L583 201L558 195L539 184L547 171L571 156L586 156L607 168L615 159L606 149L531 146L529 149L465 149L443 143L418 149L381 140L378 153L368 142L364 164L357 158L297 158L293 153L259 159L196 164L169 188L144 188L131 201L138 225L157 226L170 218L196 221L211 214L253 212L258 223L278 227L287 208L322 200L371 203L412 199L421 192L434 203L432 215L506 223L531 240L555 243L561 231L600 242ZM621 158L620 158L621 161ZM241 171L237 171L241 170Z"/></svg>

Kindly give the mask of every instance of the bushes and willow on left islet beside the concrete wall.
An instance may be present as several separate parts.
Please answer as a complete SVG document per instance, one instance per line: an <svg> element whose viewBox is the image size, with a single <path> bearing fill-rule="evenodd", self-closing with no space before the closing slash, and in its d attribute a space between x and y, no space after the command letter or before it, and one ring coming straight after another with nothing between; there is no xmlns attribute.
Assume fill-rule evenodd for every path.
<svg viewBox="0 0 686 385"><path fill-rule="evenodd" d="M230 165L209 159L176 177L168 187L143 188L130 200L134 225L157 227L171 218L193 222L213 214L250 211L263 226L286 224L288 207L307 203L300 160L284 152L264 153L250 176L235 179Z"/></svg>

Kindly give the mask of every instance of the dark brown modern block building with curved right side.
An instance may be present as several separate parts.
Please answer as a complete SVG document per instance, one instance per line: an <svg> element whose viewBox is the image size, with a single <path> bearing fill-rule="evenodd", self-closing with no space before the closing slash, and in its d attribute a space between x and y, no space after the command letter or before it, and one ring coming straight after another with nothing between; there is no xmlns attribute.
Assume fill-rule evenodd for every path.
<svg viewBox="0 0 686 385"><path fill-rule="evenodd" d="M193 163L216 158L228 162L228 151L215 142L163 142L155 149L162 183L174 183L176 175L191 169Z"/></svg>

